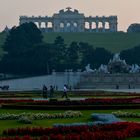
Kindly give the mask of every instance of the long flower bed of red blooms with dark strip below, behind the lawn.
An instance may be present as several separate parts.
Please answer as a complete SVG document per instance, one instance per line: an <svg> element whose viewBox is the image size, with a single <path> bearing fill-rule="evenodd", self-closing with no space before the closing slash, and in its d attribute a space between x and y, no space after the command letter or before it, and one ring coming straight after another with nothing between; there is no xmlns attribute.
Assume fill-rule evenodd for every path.
<svg viewBox="0 0 140 140"><path fill-rule="evenodd" d="M87 109L139 109L136 103L139 97L133 98L89 98L76 101L46 101L46 100L1 100L5 109L47 109L47 110L87 110Z"/></svg>

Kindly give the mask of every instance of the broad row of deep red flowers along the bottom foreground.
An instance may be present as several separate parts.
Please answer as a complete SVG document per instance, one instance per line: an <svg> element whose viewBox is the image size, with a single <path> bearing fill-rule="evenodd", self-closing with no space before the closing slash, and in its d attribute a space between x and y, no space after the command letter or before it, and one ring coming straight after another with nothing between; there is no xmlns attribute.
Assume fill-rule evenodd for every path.
<svg viewBox="0 0 140 140"><path fill-rule="evenodd" d="M12 136L12 138L1 138L0 140L25 140L25 137L26 140L124 140L129 137L139 137L140 124L119 122L98 127L18 128L4 131L3 136ZM13 136L24 137L15 139Z"/></svg>

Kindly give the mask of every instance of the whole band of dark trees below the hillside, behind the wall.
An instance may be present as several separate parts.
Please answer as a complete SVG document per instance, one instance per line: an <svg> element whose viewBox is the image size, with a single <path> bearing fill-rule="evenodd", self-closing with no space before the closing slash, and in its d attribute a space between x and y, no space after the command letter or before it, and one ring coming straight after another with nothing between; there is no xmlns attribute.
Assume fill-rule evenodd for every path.
<svg viewBox="0 0 140 140"><path fill-rule="evenodd" d="M0 62L0 72L10 74L49 74L53 69L84 69L107 64L113 54L104 48L94 48L87 42L65 44L61 36L53 43L45 43L41 31L34 23L13 27L3 45L5 55ZM121 52L127 63L140 64L140 46ZM135 53L135 55L134 55ZM130 55L133 57L130 57Z"/></svg>

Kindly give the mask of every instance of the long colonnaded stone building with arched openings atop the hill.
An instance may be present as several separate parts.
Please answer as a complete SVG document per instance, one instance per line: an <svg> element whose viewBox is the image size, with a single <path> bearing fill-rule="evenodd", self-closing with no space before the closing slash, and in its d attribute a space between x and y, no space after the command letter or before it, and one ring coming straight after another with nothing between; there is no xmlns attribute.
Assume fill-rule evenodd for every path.
<svg viewBox="0 0 140 140"><path fill-rule="evenodd" d="M60 10L52 17L20 16L20 24L34 22L43 32L117 32L117 16L85 17L78 10Z"/></svg>

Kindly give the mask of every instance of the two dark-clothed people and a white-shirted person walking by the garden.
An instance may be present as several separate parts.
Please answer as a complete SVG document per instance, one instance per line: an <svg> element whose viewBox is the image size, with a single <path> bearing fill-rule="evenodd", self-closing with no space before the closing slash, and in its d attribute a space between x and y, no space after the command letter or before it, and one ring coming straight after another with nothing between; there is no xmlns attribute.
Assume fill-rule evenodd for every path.
<svg viewBox="0 0 140 140"><path fill-rule="evenodd" d="M48 91L47 86L43 85L43 98L48 98L48 96L53 97L54 96L54 88L55 87L53 87L51 85L50 88L49 88L49 91ZM67 85L64 85L62 98L65 97L66 99L68 99L67 91L68 91Z"/></svg>

